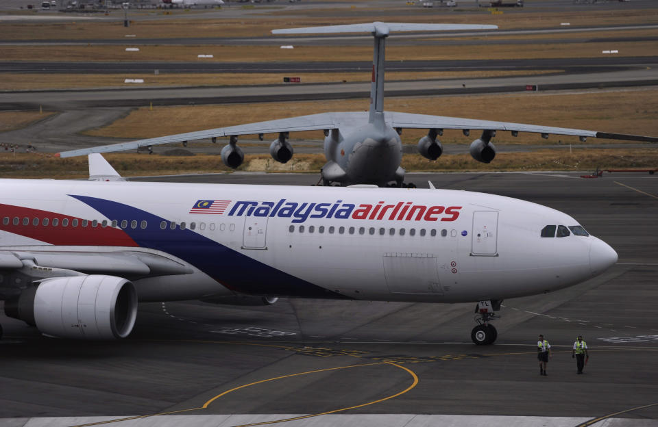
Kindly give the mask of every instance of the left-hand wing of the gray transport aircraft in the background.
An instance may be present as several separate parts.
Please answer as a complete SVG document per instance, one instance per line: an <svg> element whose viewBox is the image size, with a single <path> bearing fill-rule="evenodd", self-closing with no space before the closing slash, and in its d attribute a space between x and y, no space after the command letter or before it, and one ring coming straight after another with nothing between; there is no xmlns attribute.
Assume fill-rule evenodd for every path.
<svg viewBox="0 0 658 427"><path fill-rule="evenodd" d="M345 125L345 123L363 118L367 119L367 113L343 112L310 114L308 116L281 118L278 120L249 123L247 125L218 127L217 129L208 129L206 131L178 133L176 135L160 136L158 138L147 138L145 140L119 142L118 144L82 148L80 150L62 151L62 153L58 153L57 155L59 157L74 157L79 155L88 155L91 153L110 153L112 151L136 150L137 148L143 146L169 144L171 142L204 140L208 138L232 135L256 135L260 133L336 129L339 127L339 125Z"/></svg>

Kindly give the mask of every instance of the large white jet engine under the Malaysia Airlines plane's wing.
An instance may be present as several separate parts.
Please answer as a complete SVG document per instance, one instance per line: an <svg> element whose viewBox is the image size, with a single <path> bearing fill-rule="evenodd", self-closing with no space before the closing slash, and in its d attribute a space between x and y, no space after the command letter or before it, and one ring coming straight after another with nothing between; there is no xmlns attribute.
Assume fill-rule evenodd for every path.
<svg viewBox="0 0 658 427"><path fill-rule="evenodd" d="M5 313L51 337L125 338L135 324L137 292L116 276L56 277L6 301Z"/></svg>

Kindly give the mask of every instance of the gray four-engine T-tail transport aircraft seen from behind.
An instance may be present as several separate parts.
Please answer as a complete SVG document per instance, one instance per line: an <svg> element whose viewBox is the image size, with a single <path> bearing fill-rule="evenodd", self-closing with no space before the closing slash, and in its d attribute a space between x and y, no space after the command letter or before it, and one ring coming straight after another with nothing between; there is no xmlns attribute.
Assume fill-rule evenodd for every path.
<svg viewBox="0 0 658 427"><path fill-rule="evenodd" d="M370 89L369 112L330 112L310 114L249 123L230 127L219 127L206 131L195 131L148 138L106 146L96 146L80 150L64 151L61 157L87 155L90 153L107 153L125 151L140 147L171 142L186 142L218 137L230 137L229 144L221 150L221 159L226 166L237 168L244 159L244 154L237 145L239 135L256 135L263 140L265 133L278 133L273 140L269 153L276 161L286 163L293 157L293 147L289 142L289 133L295 131L324 131L324 153L327 159L321 170L324 185L375 184L384 186L395 182L404 185L402 160L402 129L428 129L426 136L418 141L418 151L424 157L436 160L443 148L437 138L443 129L461 129L464 135L471 130L482 131L480 138L470 146L470 154L477 161L489 163L496 156L496 147L491 139L496 131L511 131L513 136L519 132L541 133L543 138L550 134L574 135L585 142L587 137L613 140L631 140L658 142L658 138L640 135L624 135L563 127L524 125L520 123L473 120L425 114L409 114L384 111L384 52L386 38L394 31L454 31L474 29L496 29L496 25L460 25L460 24L414 24L414 23L366 23L353 25L331 25L328 27L307 27L293 29L275 29L273 34L329 34L369 32L374 37L374 55L372 64L372 83ZM413 186L413 184L409 184Z"/></svg>

